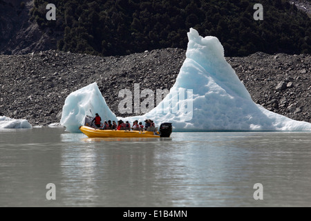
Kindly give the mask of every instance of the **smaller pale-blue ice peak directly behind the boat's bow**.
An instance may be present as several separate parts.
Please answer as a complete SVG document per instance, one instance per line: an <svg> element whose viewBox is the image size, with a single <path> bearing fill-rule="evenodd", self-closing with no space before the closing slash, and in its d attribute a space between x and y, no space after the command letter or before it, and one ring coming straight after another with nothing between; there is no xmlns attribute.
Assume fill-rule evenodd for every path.
<svg viewBox="0 0 311 221"><path fill-rule="evenodd" d="M79 132L86 115L98 113L102 119L117 121L117 117L106 104L96 82L70 93L66 97L60 124L66 126L68 132Z"/></svg>

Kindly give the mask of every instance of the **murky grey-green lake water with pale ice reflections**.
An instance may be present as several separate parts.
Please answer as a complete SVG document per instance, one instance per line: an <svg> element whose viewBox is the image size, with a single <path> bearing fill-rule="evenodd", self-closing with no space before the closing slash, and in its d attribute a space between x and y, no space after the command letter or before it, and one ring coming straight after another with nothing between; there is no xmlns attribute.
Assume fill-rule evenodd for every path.
<svg viewBox="0 0 311 221"><path fill-rule="evenodd" d="M311 133L91 139L2 129L0 179L0 206L311 206Z"/></svg>

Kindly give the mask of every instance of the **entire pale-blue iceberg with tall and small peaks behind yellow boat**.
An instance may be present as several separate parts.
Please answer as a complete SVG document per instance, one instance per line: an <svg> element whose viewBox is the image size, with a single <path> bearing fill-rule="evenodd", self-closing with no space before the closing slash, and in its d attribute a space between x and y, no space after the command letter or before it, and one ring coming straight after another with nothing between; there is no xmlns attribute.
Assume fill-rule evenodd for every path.
<svg viewBox="0 0 311 221"><path fill-rule="evenodd" d="M225 60L223 46L216 37L200 37L191 28L188 38L186 59L169 95L149 113L117 118L131 123L135 119L153 119L157 126L171 122L173 131L311 131L308 122L255 104ZM100 113L104 120L115 119L94 83L67 97L61 124L67 131L77 131L89 109Z"/></svg>

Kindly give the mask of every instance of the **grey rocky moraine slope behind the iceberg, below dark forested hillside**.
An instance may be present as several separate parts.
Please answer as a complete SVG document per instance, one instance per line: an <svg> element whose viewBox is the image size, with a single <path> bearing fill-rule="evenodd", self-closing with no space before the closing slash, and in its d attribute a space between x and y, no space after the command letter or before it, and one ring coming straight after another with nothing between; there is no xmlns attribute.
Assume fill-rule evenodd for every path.
<svg viewBox="0 0 311 221"><path fill-rule="evenodd" d="M311 122L311 55L227 57L252 99L270 111ZM117 116L119 91L169 89L185 60L185 50L167 48L123 57L95 57L48 50L0 55L0 115L32 125L59 122L66 97L97 82ZM133 113L133 115L136 115Z"/></svg>

